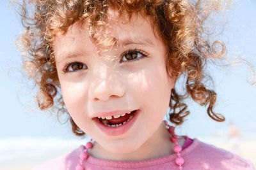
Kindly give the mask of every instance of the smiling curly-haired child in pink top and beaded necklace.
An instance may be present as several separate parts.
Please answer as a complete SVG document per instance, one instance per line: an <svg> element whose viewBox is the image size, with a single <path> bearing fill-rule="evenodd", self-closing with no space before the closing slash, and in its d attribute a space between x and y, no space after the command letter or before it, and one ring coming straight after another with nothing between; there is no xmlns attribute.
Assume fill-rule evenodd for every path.
<svg viewBox="0 0 256 170"><path fill-rule="evenodd" d="M184 0L35 0L22 4L24 69L41 110L70 115L93 141L38 169L253 169L230 152L175 135L192 97L212 119L216 93L204 66L225 53L205 39L217 3ZM218 46L219 45L219 46ZM219 48L221 47L221 48ZM186 96L175 82L186 77ZM59 113L59 112L58 112Z"/></svg>

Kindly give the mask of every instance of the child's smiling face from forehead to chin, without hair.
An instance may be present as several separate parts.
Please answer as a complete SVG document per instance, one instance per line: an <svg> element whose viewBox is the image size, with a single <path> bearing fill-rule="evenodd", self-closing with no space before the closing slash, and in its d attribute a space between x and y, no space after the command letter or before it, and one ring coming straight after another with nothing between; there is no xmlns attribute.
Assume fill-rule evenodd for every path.
<svg viewBox="0 0 256 170"><path fill-rule="evenodd" d="M117 39L112 48L98 48L84 23L55 38L54 50L74 122L109 152L129 153L158 131L175 82L166 73L166 48L152 22L116 16L109 14L108 31L100 32Z"/></svg>

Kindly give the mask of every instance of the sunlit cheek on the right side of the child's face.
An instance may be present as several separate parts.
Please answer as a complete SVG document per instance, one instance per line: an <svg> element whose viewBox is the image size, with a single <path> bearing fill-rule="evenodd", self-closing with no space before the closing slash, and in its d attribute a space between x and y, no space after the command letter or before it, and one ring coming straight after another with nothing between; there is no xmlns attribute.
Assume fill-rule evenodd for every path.
<svg viewBox="0 0 256 170"><path fill-rule="evenodd" d="M157 110L160 106L165 113L170 102L173 81L168 78L162 64L143 69L139 73L133 74L128 80L136 98L143 101L143 107Z"/></svg>

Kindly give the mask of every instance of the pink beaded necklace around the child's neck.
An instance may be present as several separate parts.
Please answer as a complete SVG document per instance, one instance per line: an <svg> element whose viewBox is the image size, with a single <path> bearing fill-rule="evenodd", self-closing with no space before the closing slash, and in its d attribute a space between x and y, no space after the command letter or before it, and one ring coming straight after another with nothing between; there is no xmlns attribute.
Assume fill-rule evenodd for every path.
<svg viewBox="0 0 256 170"><path fill-rule="evenodd" d="M166 120L164 120L164 124L168 128L168 131L170 134L172 134L171 141L175 143L175 146L173 147L173 151L176 153L177 158L175 159L175 164L179 167L179 170L182 170L182 164L184 164L184 159L180 156L180 152L182 150L182 147L178 144L179 137L175 134L175 127L168 124ZM80 161L79 164L76 166L76 170L85 170L85 167L83 166L83 163L88 159L89 154L88 149L91 149L93 147L92 141L89 141L84 146L84 150L82 153L80 153Z"/></svg>

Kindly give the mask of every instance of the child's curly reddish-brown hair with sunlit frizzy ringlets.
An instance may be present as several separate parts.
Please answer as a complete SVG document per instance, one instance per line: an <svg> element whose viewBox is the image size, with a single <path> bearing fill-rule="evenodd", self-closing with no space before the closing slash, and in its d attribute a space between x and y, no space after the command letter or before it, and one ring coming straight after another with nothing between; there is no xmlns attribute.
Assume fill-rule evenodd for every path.
<svg viewBox="0 0 256 170"><path fill-rule="evenodd" d="M170 121L176 125L184 122L189 115L184 103L188 97L207 106L207 114L213 120L225 121L223 115L213 111L216 93L204 84L208 77L204 71L207 60L220 58L226 52L222 41L210 43L205 38L205 21L212 11L218 11L218 7L218 1L200 0L23 0L19 11L25 29L18 39L20 50L24 52L24 69L39 87L38 107L47 110L54 106L68 113L60 94L53 38L65 34L70 25L83 20L92 28L104 26L108 10L113 9L129 18L134 13L150 17L168 51L166 71L171 67L173 76L185 75L186 93L181 95L172 89ZM74 134L83 136L85 133L71 117L69 119Z"/></svg>

